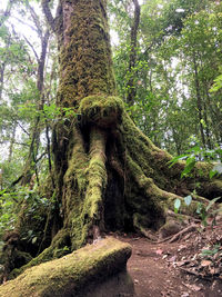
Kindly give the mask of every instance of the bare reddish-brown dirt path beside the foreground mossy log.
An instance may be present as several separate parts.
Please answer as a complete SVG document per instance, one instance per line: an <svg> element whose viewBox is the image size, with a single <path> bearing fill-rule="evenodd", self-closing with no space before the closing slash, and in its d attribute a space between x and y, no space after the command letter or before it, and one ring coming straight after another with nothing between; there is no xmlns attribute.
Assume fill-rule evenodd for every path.
<svg viewBox="0 0 222 297"><path fill-rule="evenodd" d="M222 281L203 280L181 271L176 260L190 247L192 238L175 244L152 244L145 238L117 236L132 246L128 270L138 297L220 297ZM190 250L188 248L188 253ZM183 258L182 258L183 259Z"/></svg>

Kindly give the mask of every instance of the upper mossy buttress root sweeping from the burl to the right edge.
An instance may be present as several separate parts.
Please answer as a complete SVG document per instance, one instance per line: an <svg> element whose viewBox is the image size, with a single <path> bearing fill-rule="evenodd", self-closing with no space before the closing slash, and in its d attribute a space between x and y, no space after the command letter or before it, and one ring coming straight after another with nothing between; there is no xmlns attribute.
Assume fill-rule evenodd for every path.
<svg viewBox="0 0 222 297"><path fill-rule="evenodd" d="M214 177L210 180L209 172L212 165L208 162L196 162L193 175L189 179L181 179L181 172L185 167L185 161L178 161L171 168L169 161L172 156L167 151L155 147L132 122L130 117L123 112L121 132L130 157L137 162L145 176L151 177L153 182L161 189L188 195L194 189L199 196L213 198L222 194L222 178ZM201 184L200 188L195 188Z"/></svg>

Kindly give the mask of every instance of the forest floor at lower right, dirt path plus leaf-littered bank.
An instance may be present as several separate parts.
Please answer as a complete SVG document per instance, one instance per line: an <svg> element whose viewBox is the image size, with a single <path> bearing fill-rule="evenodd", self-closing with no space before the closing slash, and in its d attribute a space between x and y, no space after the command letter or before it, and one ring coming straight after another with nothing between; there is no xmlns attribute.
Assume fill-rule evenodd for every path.
<svg viewBox="0 0 222 297"><path fill-rule="evenodd" d="M222 296L222 221L195 227L164 242L114 235L132 246L128 271L138 297Z"/></svg>

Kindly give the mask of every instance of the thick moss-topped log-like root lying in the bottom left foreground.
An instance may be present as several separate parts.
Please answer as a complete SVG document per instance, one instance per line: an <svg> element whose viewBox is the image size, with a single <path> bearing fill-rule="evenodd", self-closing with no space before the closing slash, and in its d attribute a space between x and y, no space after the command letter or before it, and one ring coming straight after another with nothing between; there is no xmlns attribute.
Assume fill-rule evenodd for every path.
<svg viewBox="0 0 222 297"><path fill-rule="evenodd" d="M63 258L27 269L14 280L1 285L0 296L84 296L82 288L125 270L130 255L130 245L111 237L102 239Z"/></svg>

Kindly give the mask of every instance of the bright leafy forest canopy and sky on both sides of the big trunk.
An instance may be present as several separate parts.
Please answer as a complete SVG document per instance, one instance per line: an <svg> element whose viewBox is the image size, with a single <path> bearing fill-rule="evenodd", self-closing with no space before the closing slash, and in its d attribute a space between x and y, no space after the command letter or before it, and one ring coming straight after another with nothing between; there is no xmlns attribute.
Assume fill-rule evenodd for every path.
<svg viewBox="0 0 222 297"><path fill-rule="evenodd" d="M51 127L60 111L54 105L57 44L54 36L47 32L40 1L1 2L0 132L4 188L22 172L38 117L41 132L32 161L37 177L40 171L39 178L43 177L49 167L46 151ZM195 146L200 151L220 148L220 1L139 2L137 58L130 69L134 6L131 1L109 1L115 80L125 105L129 89L135 90L134 102L128 106L130 115L158 147L174 156ZM38 89L38 81L43 91Z"/></svg>

